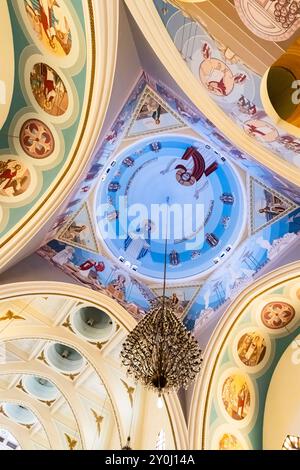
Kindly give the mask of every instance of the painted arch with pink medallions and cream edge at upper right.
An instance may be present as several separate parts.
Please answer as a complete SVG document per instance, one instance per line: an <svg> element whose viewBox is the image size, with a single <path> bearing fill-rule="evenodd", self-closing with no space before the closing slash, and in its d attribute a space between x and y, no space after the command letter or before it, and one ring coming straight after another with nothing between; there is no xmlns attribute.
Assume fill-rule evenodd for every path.
<svg viewBox="0 0 300 470"><path fill-rule="evenodd" d="M272 62L264 59L263 72L247 64L249 50L256 51L255 36L242 23L232 2L226 1L224 8L224 2L218 0L198 4L164 0L126 0L126 3L163 65L192 102L235 145L298 184L298 124L285 123L272 111L266 88ZM237 17L234 22L240 23L238 28L235 24L230 27L233 20L229 10ZM243 51L241 34L246 37L247 47ZM283 48L275 42L273 46L266 41L261 45L255 40L259 46L252 57L254 62L257 56L268 56L271 51L275 63L289 46L290 54L297 54L292 50L293 38Z"/></svg>

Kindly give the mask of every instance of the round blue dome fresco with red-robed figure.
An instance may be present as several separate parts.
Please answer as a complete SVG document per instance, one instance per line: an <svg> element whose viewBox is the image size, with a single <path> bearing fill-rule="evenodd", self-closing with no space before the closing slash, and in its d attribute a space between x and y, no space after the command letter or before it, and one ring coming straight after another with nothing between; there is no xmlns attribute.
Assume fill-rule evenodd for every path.
<svg viewBox="0 0 300 470"><path fill-rule="evenodd" d="M97 223L128 269L162 278L203 274L232 251L244 221L244 192L226 158L186 136L144 139L102 176Z"/></svg>

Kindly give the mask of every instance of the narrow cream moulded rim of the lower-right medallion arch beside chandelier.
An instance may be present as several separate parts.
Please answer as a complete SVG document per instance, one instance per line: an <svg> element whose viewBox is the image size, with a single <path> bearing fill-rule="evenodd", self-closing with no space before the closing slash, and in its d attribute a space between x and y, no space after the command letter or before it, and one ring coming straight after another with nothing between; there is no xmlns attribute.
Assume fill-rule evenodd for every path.
<svg viewBox="0 0 300 470"><path fill-rule="evenodd" d="M206 449L206 413L210 397L210 389L214 370L222 346L235 322L243 314L248 305L267 290L280 285L284 281L300 279L300 261L288 264L267 274L250 287L245 289L230 307L224 312L222 319L213 332L205 349L203 367L192 395L189 413L189 443L191 449Z"/></svg>

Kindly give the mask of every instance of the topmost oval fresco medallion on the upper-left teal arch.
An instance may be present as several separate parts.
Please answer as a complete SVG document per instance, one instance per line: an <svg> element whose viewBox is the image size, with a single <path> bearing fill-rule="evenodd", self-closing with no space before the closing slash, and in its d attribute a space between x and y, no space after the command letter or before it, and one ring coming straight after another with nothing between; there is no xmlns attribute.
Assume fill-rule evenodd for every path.
<svg viewBox="0 0 300 470"><path fill-rule="evenodd" d="M34 34L46 49L58 57L68 55L72 31L64 1L24 0L24 7Z"/></svg>

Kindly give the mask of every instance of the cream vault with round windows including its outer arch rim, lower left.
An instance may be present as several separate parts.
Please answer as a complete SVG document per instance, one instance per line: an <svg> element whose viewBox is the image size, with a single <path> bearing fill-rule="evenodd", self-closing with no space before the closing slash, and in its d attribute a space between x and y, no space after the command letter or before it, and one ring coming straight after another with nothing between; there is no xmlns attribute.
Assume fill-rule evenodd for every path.
<svg viewBox="0 0 300 470"><path fill-rule="evenodd" d="M93 343L79 333L81 330L74 330L78 325L75 318L79 318L76 312L86 305L106 312L119 325L103 344ZM128 387L132 386L130 379L119 366L118 354L124 333L135 324L122 307L104 295L79 286L74 291L74 286L70 284L19 283L2 286L0 319L0 354L4 359L0 364L0 420L4 426L11 413L10 404L22 405L33 412L37 422L27 430L30 431L29 442L26 440L25 446L46 448L42 429L45 429L51 448L68 448L70 445L86 449L95 445L107 448L113 436L118 434L121 446L126 442L132 416L133 444L136 443L137 448L142 445L141 439L144 438L138 431L139 418L145 403L153 406L150 405L152 398L135 385L129 394ZM72 348L73 355L77 351L76 354L84 360L81 369L63 373L65 369L59 369L62 366L55 362L53 356L55 344ZM51 383L58 390L59 397L48 404L37 399L28 388L30 377L39 377ZM99 386L102 392L99 392ZM105 398L106 394L108 398ZM99 436L97 439L95 437L98 425L94 421L94 412L101 421L98 432L102 428L101 433L104 432L100 442ZM100 416L104 416L104 420ZM166 399L163 416L170 432L169 445L187 448L186 426L177 397ZM158 426L160 419L157 420ZM10 422L15 427L15 421Z"/></svg>

